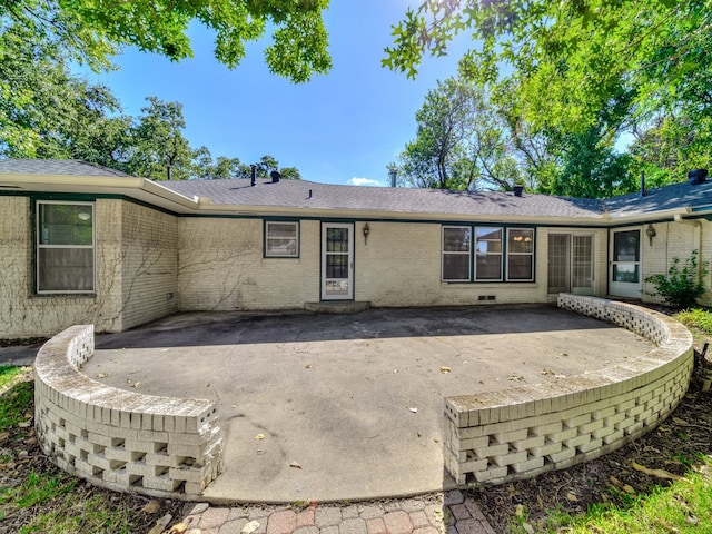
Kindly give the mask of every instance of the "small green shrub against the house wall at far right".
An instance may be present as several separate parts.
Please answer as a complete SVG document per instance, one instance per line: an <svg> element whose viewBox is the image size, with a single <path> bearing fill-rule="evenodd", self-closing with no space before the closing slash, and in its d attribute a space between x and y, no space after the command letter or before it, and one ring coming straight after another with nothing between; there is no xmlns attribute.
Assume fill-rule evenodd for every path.
<svg viewBox="0 0 712 534"><path fill-rule="evenodd" d="M698 298L704 294L700 278L708 274L706 261L698 265L698 250L692 250L682 266L680 258L673 258L668 275L657 274L645 278L646 283L655 287L655 291L649 295L660 295L665 304L676 308L694 307Z"/></svg>

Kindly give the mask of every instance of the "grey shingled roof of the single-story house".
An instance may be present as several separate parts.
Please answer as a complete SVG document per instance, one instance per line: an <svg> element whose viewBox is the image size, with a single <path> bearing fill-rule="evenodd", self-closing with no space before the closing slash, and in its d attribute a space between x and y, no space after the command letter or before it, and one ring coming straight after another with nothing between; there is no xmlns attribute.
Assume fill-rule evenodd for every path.
<svg viewBox="0 0 712 534"><path fill-rule="evenodd" d="M0 159L2 174L130 178L125 172L86 161L58 159ZM527 192L517 197L513 192L501 191L340 186L307 180L273 182L258 179L255 186L249 179L156 184L188 199L209 198L212 206L368 210L406 216L443 214L601 219L604 216L644 216L674 209L712 209L712 180L699 185L675 184L650 189L644 196L635 192L603 200Z"/></svg>

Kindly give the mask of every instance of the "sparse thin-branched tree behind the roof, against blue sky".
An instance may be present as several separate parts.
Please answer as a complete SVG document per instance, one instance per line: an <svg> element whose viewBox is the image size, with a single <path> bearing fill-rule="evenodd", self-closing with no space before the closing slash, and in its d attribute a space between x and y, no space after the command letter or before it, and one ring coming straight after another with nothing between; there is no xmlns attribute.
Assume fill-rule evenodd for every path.
<svg viewBox="0 0 712 534"><path fill-rule="evenodd" d="M453 78L438 81L415 117L416 138L400 155L411 185L512 188L518 170L505 125L476 87Z"/></svg>

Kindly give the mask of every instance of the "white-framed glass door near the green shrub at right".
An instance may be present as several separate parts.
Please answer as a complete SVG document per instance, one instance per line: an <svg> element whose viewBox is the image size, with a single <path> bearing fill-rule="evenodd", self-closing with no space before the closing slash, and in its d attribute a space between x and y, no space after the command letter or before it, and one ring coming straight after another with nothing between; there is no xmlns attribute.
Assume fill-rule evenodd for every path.
<svg viewBox="0 0 712 534"><path fill-rule="evenodd" d="M619 297L640 298L643 287L641 275L640 228L613 230L609 291Z"/></svg>

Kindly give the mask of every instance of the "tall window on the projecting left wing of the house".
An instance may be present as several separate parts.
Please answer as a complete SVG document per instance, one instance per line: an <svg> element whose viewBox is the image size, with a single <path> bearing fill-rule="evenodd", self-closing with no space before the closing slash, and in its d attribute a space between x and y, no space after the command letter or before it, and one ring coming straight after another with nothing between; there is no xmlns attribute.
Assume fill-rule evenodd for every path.
<svg viewBox="0 0 712 534"><path fill-rule="evenodd" d="M37 293L95 290L93 204L37 202Z"/></svg>

